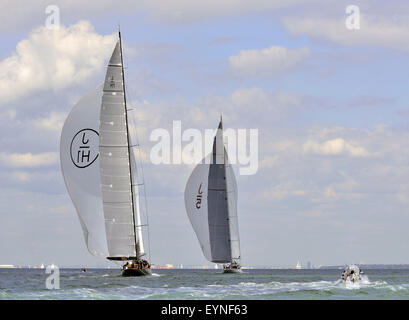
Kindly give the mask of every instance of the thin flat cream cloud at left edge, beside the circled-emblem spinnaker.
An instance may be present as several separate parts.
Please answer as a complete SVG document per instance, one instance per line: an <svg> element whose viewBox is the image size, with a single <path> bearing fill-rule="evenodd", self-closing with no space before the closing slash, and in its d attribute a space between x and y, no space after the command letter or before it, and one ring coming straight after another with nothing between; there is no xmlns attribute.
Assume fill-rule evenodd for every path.
<svg viewBox="0 0 409 320"><path fill-rule="evenodd" d="M58 162L57 152L32 153L0 153L0 162L9 167L39 167L53 165Z"/></svg>

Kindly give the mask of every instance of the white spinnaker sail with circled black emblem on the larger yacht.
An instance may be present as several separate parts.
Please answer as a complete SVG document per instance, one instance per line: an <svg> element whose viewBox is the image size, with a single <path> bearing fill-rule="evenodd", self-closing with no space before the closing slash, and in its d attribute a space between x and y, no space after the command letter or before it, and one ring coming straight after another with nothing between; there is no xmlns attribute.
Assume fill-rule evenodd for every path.
<svg viewBox="0 0 409 320"><path fill-rule="evenodd" d="M72 108L61 131L60 161L87 248L93 255L106 256L98 155L101 96L99 86Z"/></svg>

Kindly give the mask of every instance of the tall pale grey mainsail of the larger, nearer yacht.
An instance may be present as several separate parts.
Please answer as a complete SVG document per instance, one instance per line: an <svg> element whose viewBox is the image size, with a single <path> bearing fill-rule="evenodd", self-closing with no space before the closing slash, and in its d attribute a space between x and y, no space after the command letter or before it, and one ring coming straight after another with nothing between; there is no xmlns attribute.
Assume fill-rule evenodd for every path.
<svg viewBox="0 0 409 320"><path fill-rule="evenodd" d="M100 174L106 237L110 257L136 257L127 111L121 41L112 53L105 77L100 113Z"/></svg>

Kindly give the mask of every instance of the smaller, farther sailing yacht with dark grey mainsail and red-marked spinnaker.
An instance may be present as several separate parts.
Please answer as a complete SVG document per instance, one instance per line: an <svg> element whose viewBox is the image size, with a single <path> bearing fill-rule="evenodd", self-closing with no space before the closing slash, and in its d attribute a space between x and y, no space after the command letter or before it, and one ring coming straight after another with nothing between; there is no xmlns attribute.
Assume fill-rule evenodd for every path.
<svg viewBox="0 0 409 320"><path fill-rule="evenodd" d="M207 260L223 263L224 273L240 267L237 184L223 144L223 121L213 142L211 161L199 163L185 189L189 220Z"/></svg>

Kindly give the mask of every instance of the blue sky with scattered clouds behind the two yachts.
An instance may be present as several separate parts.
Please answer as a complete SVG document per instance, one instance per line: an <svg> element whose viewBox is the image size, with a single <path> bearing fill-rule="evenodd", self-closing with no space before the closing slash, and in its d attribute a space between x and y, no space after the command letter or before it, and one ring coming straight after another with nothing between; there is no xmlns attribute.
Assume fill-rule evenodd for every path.
<svg viewBox="0 0 409 320"><path fill-rule="evenodd" d="M360 28L346 27L359 7ZM56 5L60 27L46 27ZM73 105L104 81L120 25L128 101L150 133L258 129L236 175L242 264L409 263L409 3L8 1L0 21L0 264L108 266L60 170ZM237 173L237 167L235 168ZM189 165L144 161L155 264L209 264L184 207Z"/></svg>

